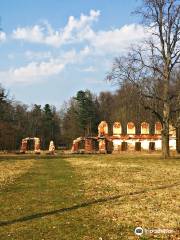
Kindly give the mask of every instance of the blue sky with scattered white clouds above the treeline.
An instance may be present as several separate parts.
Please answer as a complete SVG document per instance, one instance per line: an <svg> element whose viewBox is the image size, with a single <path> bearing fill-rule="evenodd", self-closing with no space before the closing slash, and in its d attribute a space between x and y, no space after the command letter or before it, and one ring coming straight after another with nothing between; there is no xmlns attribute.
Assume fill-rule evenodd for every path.
<svg viewBox="0 0 180 240"><path fill-rule="evenodd" d="M136 0L1 0L0 83L25 104L115 91L113 59L145 36Z"/></svg>

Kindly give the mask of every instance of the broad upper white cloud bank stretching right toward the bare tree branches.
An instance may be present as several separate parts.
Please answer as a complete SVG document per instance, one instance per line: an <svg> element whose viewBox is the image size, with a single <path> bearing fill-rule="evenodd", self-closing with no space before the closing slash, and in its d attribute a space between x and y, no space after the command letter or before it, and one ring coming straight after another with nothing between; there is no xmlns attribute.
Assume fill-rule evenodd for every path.
<svg viewBox="0 0 180 240"><path fill-rule="evenodd" d="M13 31L13 38L53 47L85 43L84 51L88 51L89 54L91 52L114 54L127 51L130 45L148 36L144 26L140 24L124 25L107 31L94 31L92 24L99 16L98 10L91 10L89 15L81 14L79 19L70 16L65 27L59 30L54 30L48 21L32 27L19 27Z"/></svg>

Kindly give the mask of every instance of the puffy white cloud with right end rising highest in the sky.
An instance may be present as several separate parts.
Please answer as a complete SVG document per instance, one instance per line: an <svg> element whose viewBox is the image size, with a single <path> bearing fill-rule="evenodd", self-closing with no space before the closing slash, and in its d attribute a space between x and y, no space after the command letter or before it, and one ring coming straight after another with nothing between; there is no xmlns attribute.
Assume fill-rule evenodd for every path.
<svg viewBox="0 0 180 240"><path fill-rule="evenodd" d="M80 19L70 16L67 25L58 31L54 30L47 21L32 27L18 27L13 31L12 36L14 39L59 47L62 44L78 41L76 35L84 29L90 30L91 24L97 21L99 15L100 11L91 10L89 16L81 14Z"/></svg>

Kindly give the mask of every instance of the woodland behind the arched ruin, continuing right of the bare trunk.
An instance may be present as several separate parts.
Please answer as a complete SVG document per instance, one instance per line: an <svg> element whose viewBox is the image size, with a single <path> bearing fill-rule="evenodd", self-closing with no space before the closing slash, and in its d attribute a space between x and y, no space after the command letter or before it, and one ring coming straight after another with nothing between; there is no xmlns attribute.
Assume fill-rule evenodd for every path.
<svg viewBox="0 0 180 240"><path fill-rule="evenodd" d="M174 100L171 101L170 108L174 111L171 111L169 119L170 123L179 129L179 71L174 72L171 81L170 91ZM156 86L156 91L161 96L161 84ZM147 121L150 124L150 133L153 134L155 122L161 121L159 115L162 115L163 104L163 101L157 98L142 98L139 88L130 82L119 85L114 93L101 92L98 96L88 90L79 91L61 111L62 139L64 143L71 144L72 140L79 136L96 136L98 124L103 120L108 123L109 134L112 134L115 121L121 122L123 134L126 134L128 122L134 122L136 132L140 133L141 123Z"/></svg>

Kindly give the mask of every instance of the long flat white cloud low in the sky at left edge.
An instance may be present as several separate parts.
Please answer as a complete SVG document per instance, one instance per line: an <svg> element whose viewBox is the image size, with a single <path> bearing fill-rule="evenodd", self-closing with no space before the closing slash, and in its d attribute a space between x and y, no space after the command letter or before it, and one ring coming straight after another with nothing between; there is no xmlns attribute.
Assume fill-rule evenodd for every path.
<svg viewBox="0 0 180 240"><path fill-rule="evenodd" d="M26 54L33 55L34 52L27 52ZM80 60L81 55L77 55L76 51L72 49L63 53L62 56L51 57L47 61L32 61L22 67L0 71L0 78L5 84L38 82L60 74L68 64Z"/></svg>

